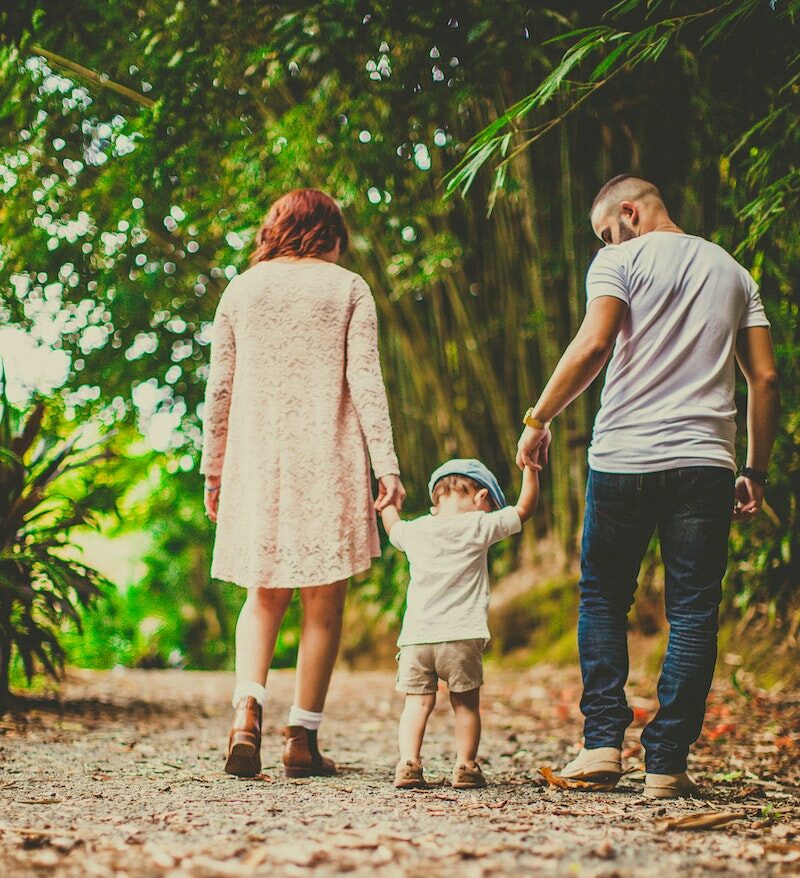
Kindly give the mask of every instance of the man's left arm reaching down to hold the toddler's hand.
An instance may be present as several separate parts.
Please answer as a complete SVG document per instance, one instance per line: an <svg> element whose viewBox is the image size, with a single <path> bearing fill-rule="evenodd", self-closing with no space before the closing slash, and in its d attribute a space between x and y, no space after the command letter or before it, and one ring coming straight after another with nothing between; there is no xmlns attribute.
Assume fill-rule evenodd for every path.
<svg viewBox="0 0 800 878"><path fill-rule="evenodd" d="M534 417L552 421L597 378L611 355L627 315L627 303L616 296L592 299L575 338L533 406ZM546 460L549 431L526 427L517 445L517 466L522 468L535 463L539 446L543 443Z"/></svg>

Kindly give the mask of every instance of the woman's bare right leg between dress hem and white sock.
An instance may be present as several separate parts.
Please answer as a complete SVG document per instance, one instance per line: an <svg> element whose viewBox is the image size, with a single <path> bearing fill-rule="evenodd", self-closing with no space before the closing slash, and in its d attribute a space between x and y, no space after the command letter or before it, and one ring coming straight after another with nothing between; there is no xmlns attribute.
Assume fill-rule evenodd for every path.
<svg viewBox="0 0 800 878"><path fill-rule="evenodd" d="M297 655L294 706L322 713L339 652L347 580L301 588L303 626Z"/></svg>

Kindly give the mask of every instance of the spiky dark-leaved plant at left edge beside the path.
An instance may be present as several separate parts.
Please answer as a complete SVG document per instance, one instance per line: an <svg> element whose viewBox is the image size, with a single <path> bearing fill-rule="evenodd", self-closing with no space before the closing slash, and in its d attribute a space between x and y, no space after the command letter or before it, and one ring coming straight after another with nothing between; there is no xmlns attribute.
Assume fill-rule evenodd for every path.
<svg viewBox="0 0 800 878"><path fill-rule="evenodd" d="M2 372L0 372L2 381ZM57 677L63 626L80 629L80 611L107 585L76 557L74 528L94 525L107 495L87 470L107 458L101 445L80 447L80 434L59 442L42 430L44 406L26 416L0 389L0 712L8 706L11 663L30 681L37 662Z"/></svg>

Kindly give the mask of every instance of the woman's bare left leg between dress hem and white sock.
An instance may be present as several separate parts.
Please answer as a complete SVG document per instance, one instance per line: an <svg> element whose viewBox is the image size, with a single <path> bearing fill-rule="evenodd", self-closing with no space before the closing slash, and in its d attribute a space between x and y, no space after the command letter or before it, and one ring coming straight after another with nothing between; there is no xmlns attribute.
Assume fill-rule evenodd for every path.
<svg viewBox="0 0 800 878"><path fill-rule="evenodd" d="M236 623L236 683L267 681L290 588L250 588Z"/></svg>

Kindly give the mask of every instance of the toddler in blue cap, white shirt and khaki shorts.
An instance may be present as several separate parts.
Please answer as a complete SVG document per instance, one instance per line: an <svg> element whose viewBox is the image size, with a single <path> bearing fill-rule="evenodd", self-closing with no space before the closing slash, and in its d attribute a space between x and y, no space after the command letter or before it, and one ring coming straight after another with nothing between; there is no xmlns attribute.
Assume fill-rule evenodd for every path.
<svg viewBox="0 0 800 878"><path fill-rule="evenodd" d="M408 556L411 580L397 645L400 761L394 785L424 787L420 751L438 681L447 683L455 714L454 789L486 786L475 761L481 737L480 687L489 640L489 546L519 533L539 497L541 467L526 467L516 506L506 506L497 479L479 460L448 460L431 476L430 515L402 521L381 512L389 541Z"/></svg>

